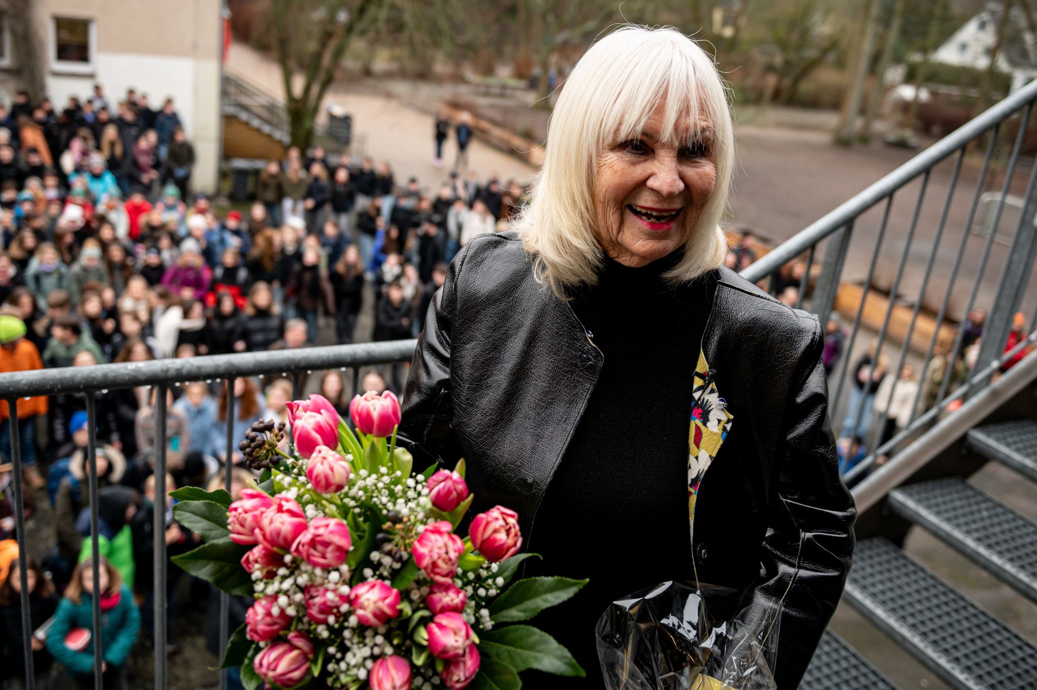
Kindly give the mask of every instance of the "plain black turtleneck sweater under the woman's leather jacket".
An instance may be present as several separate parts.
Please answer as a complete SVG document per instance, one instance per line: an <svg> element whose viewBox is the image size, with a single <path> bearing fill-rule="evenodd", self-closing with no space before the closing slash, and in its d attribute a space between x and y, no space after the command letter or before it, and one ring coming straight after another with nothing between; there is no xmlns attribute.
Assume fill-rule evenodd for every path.
<svg viewBox="0 0 1037 690"><path fill-rule="evenodd" d="M688 434L712 292L704 278L666 284L662 274L680 254L642 268L607 259L598 284L572 301L604 366L537 512L528 549L543 560L527 575L590 579L532 622L568 647L587 678L530 671L528 687L599 690L594 627L608 605L693 579Z"/></svg>

